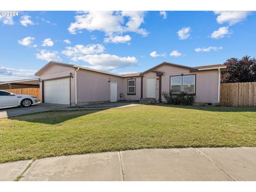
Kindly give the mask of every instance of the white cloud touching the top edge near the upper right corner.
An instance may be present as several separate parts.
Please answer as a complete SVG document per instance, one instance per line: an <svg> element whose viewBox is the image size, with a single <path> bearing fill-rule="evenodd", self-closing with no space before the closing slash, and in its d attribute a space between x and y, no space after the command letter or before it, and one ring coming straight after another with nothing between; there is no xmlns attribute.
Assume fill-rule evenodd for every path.
<svg viewBox="0 0 256 192"><path fill-rule="evenodd" d="M230 26L246 19L250 11L214 11L218 15L217 22L219 24L228 23Z"/></svg>

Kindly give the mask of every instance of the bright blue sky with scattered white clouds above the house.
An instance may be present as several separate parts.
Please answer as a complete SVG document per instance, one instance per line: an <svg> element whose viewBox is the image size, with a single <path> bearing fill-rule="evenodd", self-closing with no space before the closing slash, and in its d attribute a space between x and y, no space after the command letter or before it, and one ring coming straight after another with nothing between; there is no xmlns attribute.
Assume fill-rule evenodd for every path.
<svg viewBox="0 0 256 192"><path fill-rule="evenodd" d="M19 11L0 15L0 81L34 78L49 61L116 74L255 57L250 11Z"/></svg>

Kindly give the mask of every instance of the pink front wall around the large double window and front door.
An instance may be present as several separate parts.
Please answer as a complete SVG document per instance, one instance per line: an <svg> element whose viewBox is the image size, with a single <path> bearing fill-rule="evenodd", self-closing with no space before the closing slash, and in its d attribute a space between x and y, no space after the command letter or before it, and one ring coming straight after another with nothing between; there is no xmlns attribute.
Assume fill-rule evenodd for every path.
<svg viewBox="0 0 256 192"><path fill-rule="evenodd" d="M196 75L196 102L217 103L218 102L218 70L198 71L190 73L188 69L173 66L159 66L156 70L163 71L162 93L170 91L170 76L175 75ZM156 77L153 72L144 74L143 77L143 98L147 98L146 81L147 77ZM159 81L156 80L156 100L159 99ZM162 94L161 94L162 95ZM162 95L162 101L165 101Z"/></svg>

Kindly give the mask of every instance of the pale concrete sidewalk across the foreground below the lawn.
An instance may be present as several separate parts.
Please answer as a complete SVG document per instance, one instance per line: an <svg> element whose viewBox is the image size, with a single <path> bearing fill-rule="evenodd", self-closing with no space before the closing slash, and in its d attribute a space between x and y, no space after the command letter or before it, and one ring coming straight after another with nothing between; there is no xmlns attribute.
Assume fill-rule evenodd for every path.
<svg viewBox="0 0 256 192"><path fill-rule="evenodd" d="M256 181L256 148L141 149L0 164L0 180L17 178L20 181Z"/></svg>

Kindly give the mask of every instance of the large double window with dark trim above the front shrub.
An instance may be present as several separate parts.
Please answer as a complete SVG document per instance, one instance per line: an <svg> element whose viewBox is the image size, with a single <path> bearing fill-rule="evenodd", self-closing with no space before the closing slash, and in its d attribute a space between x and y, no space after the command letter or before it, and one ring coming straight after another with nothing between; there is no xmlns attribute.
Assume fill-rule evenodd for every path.
<svg viewBox="0 0 256 192"><path fill-rule="evenodd" d="M184 75L184 76L173 76L170 77L170 89L173 93L196 93L196 76L195 75Z"/></svg>

